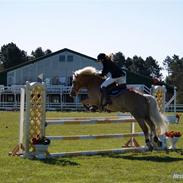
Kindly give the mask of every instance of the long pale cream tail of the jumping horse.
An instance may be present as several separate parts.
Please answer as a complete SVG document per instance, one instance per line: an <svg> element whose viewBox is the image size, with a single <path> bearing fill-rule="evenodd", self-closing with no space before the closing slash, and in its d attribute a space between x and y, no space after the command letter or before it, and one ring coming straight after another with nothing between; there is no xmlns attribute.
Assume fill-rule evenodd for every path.
<svg viewBox="0 0 183 183"><path fill-rule="evenodd" d="M145 95L149 103L149 117L155 124L156 130L161 134L164 134L168 130L167 118L159 112L158 104L156 99L151 95Z"/></svg>

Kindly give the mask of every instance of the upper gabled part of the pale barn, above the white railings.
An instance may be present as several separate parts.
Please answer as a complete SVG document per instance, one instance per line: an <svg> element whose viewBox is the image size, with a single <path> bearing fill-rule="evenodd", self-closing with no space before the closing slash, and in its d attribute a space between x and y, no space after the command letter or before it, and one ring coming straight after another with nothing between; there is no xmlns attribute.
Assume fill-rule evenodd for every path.
<svg viewBox="0 0 183 183"><path fill-rule="evenodd" d="M48 85L69 85L72 72L85 66L94 66L96 59L64 48L44 57L11 68L7 72L7 85L23 85L40 79Z"/></svg>

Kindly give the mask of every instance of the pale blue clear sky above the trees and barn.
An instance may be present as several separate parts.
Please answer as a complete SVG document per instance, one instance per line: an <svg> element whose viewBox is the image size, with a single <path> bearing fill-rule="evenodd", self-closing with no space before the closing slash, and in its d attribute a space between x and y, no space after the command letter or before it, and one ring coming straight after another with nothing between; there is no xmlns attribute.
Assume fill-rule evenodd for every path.
<svg viewBox="0 0 183 183"><path fill-rule="evenodd" d="M183 0L0 0L0 46L183 57ZM166 72L163 72L166 75Z"/></svg>

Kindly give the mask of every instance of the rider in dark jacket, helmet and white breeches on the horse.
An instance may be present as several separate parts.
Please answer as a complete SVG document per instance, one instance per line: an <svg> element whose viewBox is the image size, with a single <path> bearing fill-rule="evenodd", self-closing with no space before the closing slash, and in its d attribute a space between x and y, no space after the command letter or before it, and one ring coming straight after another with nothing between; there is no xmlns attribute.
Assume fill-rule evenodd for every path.
<svg viewBox="0 0 183 183"><path fill-rule="evenodd" d="M116 82L117 84L124 84L126 87L126 73L105 53L100 53L97 56L97 62L102 63L103 65L103 70L99 73L100 76L106 76L110 73L110 76L107 76L106 80L100 86L102 92L101 104L102 106L105 106L111 104L107 86Z"/></svg>

